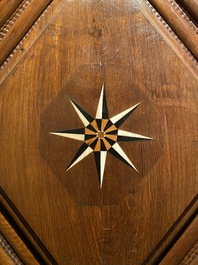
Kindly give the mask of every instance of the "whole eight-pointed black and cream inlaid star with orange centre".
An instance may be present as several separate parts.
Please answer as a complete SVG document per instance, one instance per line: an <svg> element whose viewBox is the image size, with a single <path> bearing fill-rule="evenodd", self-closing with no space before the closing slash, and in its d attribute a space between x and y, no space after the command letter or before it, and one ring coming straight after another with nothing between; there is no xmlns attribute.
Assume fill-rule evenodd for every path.
<svg viewBox="0 0 198 265"><path fill-rule="evenodd" d="M136 167L130 161L123 149L120 147L119 142L145 141L152 140L153 138L120 130L119 127L140 105L141 102L117 114L116 116L109 118L105 87L103 84L96 116L95 118L93 118L73 100L69 100L71 101L72 106L74 107L79 118L84 124L84 127L80 129L50 132L50 134L67 137L83 142L76 155L72 159L71 163L67 167L66 171L75 166L78 162L80 162L92 152L94 152L101 188L103 183L105 162L108 152L120 159L125 164L129 165L135 171L137 171Z"/></svg>

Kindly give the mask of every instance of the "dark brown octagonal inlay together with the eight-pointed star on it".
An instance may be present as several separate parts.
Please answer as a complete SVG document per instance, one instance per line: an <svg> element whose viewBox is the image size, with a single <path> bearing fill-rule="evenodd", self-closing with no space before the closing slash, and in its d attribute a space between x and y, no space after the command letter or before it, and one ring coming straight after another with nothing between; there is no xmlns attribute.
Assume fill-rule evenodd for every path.
<svg viewBox="0 0 198 265"><path fill-rule="evenodd" d="M79 205L115 205L162 155L162 124L120 67L85 65L42 113L40 154Z"/></svg>

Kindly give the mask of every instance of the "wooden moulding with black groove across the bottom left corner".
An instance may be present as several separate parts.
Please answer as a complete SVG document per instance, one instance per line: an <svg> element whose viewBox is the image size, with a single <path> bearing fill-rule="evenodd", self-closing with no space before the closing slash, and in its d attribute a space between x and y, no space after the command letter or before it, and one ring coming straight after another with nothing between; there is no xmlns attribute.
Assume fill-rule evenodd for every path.
<svg viewBox="0 0 198 265"><path fill-rule="evenodd" d="M28 259L34 263L25 264L53 264L56 261L39 240L37 235L18 212L11 200L0 188L0 233L10 244L22 261ZM39 262L39 263L38 263Z"/></svg>

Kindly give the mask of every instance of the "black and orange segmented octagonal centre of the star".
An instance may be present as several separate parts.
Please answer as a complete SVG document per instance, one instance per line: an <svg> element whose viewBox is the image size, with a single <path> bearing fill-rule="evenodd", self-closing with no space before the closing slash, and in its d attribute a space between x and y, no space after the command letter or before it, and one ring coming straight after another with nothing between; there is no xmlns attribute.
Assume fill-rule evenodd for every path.
<svg viewBox="0 0 198 265"><path fill-rule="evenodd" d="M117 141L117 127L109 119L94 119L85 128L85 143L93 151L107 151Z"/></svg>

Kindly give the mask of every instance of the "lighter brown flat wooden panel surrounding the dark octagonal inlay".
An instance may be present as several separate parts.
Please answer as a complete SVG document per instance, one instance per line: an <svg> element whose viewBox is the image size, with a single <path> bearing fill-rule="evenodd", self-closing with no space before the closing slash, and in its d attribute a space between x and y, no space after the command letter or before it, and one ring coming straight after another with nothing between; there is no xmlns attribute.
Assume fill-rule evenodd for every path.
<svg viewBox="0 0 198 265"><path fill-rule="evenodd" d="M176 46L172 49L168 45L168 37L162 38L135 0L65 1L46 22L39 38L32 34L34 43L4 75L0 89L2 187L58 264L140 265L197 194L196 65L191 65L192 74L175 53ZM93 74L93 68L100 72ZM88 69L86 74L82 69ZM65 86L71 80L75 86ZM133 129L156 128L157 132L160 128L163 155L141 179L131 171L122 175L125 165L109 156L105 170L111 172L108 174L114 182L108 183L107 179L103 193L91 194L90 199L94 198L99 205L82 207L41 157L40 130L46 125L41 124L41 116L55 98L61 99L62 92L64 97L74 97L95 113L101 81L108 82L112 115L129 107L131 95L136 99L144 95L145 105L151 102L152 107L148 104L146 112L142 108L138 114L147 115L147 123L144 126L145 119L138 123L137 115ZM128 85L121 86L122 81ZM61 104L52 104L54 113L65 111L59 109ZM80 121L67 104L65 107L65 122L75 128ZM162 117L161 124L154 115L153 128L148 126L152 108ZM56 122L55 114L54 118L52 124ZM130 130L132 124L123 126ZM50 144L45 147L48 155ZM71 141L64 142L62 148L64 145L69 151L60 149L60 166L78 147ZM133 158L132 145L123 145L123 149ZM58 151L54 150L55 158ZM142 149L134 159L139 164L139 158L146 163L149 155L155 158L158 153ZM93 162L93 158L87 157L81 164L81 178L76 177L75 169L76 176L71 175L68 182L69 186L74 181L70 185L73 191L75 184L84 185L83 178L97 185L95 173L87 171L87 166L94 170ZM127 186L124 179L130 176L131 186ZM92 185L93 182L87 182L84 190L91 190ZM128 195L119 200L119 205L112 205L123 190ZM83 190L79 193L83 196Z"/></svg>

